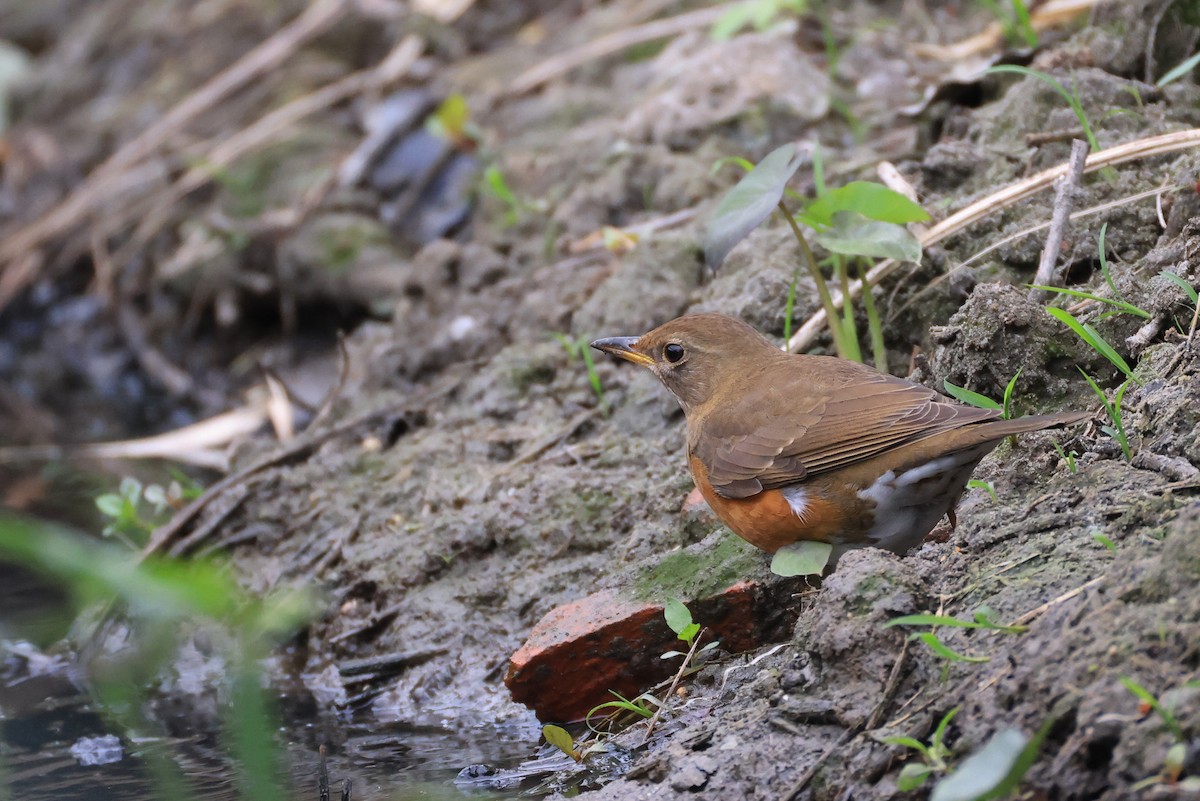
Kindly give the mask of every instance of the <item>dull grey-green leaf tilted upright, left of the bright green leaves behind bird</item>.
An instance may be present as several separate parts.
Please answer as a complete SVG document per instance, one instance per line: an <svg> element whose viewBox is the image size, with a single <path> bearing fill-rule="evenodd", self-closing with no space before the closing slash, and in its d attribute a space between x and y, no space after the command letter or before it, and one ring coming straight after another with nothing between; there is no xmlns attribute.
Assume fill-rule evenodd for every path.
<svg viewBox="0 0 1200 801"><path fill-rule="evenodd" d="M725 194L704 231L704 261L710 269L721 266L730 251L770 216L806 155L796 143L776 147Z"/></svg>

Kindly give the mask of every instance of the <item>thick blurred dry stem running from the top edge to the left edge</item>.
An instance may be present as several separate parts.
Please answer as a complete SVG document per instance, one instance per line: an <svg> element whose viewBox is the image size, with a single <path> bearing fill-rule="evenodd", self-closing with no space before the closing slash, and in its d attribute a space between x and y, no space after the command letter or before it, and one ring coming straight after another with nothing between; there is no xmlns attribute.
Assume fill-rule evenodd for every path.
<svg viewBox="0 0 1200 801"><path fill-rule="evenodd" d="M193 120L209 112L234 91L270 73L306 42L328 30L346 11L347 0L317 0L274 36L220 72L184 98L155 125L122 145L97 167L59 205L0 241L0 309L8 305L34 275L16 279L7 273L18 260L42 247L50 237L79 224L100 210L110 195L113 182L157 151ZM23 270L23 273L30 271Z"/></svg>

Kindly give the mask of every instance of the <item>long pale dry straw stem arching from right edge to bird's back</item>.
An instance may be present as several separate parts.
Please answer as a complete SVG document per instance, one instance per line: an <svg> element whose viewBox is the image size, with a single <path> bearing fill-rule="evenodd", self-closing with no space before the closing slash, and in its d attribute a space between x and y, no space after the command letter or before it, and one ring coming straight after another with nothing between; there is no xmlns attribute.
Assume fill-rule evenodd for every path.
<svg viewBox="0 0 1200 801"><path fill-rule="evenodd" d="M1196 146L1200 146L1200 128L1164 133L1159 137L1139 139L1138 141L1130 141L1092 153L1087 157L1084 171L1092 173L1104 167L1123 164L1126 162L1150 158L1152 156L1163 156L1166 153L1178 152L1181 150L1189 150ZM1058 167L1052 167L1048 170L1038 173L1037 175L1027 177L1024 181L1018 181L1016 183L1007 186L1003 189L983 198L982 200L972 203L966 209L950 215L925 231L924 235L919 236L918 239L920 240L922 247L924 248L936 245L966 227L984 219L986 216L1013 206L1030 197L1033 197L1038 192L1054 186L1054 182L1066 175L1068 169L1069 167L1066 163L1060 164ZM870 272L866 273L866 282L871 285L880 283L899 270L901 264L902 263L894 261L892 259L880 261L877 265L871 267ZM862 281L856 281L850 285L850 294L852 297L857 296L862 293ZM842 299L840 294L835 295L833 300L834 306L841 306ZM823 309L820 309L814 313L803 326L800 326L792 339L787 343L787 349L792 353L808 350L812 347L817 335L821 333L821 330L824 329L824 326L826 314Z"/></svg>

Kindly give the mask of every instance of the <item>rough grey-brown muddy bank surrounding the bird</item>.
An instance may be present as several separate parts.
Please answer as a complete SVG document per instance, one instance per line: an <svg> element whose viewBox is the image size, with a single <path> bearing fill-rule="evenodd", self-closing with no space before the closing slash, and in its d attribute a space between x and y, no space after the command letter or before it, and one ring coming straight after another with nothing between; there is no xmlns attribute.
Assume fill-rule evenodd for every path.
<svg viewBox="0 0 1200 801"><path fill-rule="evenodd" d="M112 2L108 12L136 5ZM554 335L637 335L703 309L782 336L797 269L786 231L756 231L715 275L703 265L703 221L738 176L732 165L714 170L719 158L754 161L805 138L821 144L835 183L874 180L875 164L892 161L942 218L1063 162L1067 139L1030 144L1026 137L1079 125L1038 80L979 78L962 59L917 55L918 43L956 42L985 28L989 19L973 4L816 5L820 14L784 16L769 30L728 41L698 26L589 60L522 94L511 91L517 77L548 58L686 8L622 0L517 11L479 2L444 25L418 25L404 13L380 23L348 11L299 52L287 80L264 82L224 109L281 103L312 82L373 62L416 31L425 55L402 85L436 98L462 92L478 131L478 167L497 167L516 197L505 204L485 193L467 219L414 242L406 236L419 240L419 231L402 235L380 222L384 191L364 185L370 181L329 191L290 228L230 223L230 204L246 201L230 177L192 195L179 219L121 267L140 276L131 293L162 350L220 396L192 387L176 396L174 411L134 422L161 428L221 406L253 379L244 367L247 350L275 354L281 369L298 372L317 353L331 381L331 332L338 324L354 329L352 367L334 412L301 435L316 445L280 446L266 435L244 442L235 475L283 456L242 474L187 525L204 532L193 547L232 554L254 591L287 583L324 588L328 613L280 660L280 669L299 670L323 704L350 705L380 724L450 733L503 724L527 737L532 753L538 729L502 679L542 615L628 584L680 549L732 548L748 574L773 580L766 555L733 540L710 514L683 511L691 481L682 414L670 396L650 375L601 361L599 398L582 361ZM71 4L26 6L24 16L0 17L17 31L0 26L0 35L37 55L40 80L62 80L54 70L72 65L103 66L104 91L126 100L124 114L140 109L148 118L175 96L173 88L194 86L197 76L222 66L172 61L173 47L248 47L284 18L251 4L215 4L203 17L167 4L157 13L143 10L142 29L118 30L96 12L71 24L52 16ZM985 55L1031 62L1076 89L1100 147L1190 128L1200 124L1194 80L1153 85L1196 40L1200 29L1186 6L1099 4L1043 34L1036 52L1002 44ZM168 31L176 23L192 35L173 40ZM96 44L97 28L112 36L104 47ZM823 36L835 49L822 44ZM90 49L70 49L80 41ZM122 47L130 43L140 49ZM126 76L169 64L187 68L163 67L150 89ZM86 88L77 91L88 95ZM305 170L332 171L337 157L359 144L362 114L380 95L298 126L256 173L263 182L256 203L294 203L289 198L307 186ZM104 135L136 133L112 104L97 116L86 103L68 109L65 94L26 91L18 100L5 174L10 203L0 221L10 231L95 165ZM214 135L203 122L197 127L193 135ZM211 127L220 132L216 120ZM44 152L28 145L42 141L37 137L59 147L56 173L44 165L43 173L18 171L29 168L18 156ZM1192 308L1183 293L1157 277L1170 270L1200 283L1200 216L1192 197L1198 162L1184 151L1090 175L1079 207L1156 186L1180 191L1163 200L1165 228L1147 198L1085 217L1063 248L1069 282L1105 291L1097 235L1106 222L1116 290L1160 324L1148 341L1129 345L1127 337L1145 320L1104 318L1094 305L1080 312L1135 366L1140 383L1123 403L1133 459L1102 430L1109 422L1103 412L1094 424L1002 446L977 474L992 483L995 498L971 490L944 542L905 558L875 550L844 558L820 589L793 597L800 612L785 648L710 662L688 680L686 695L652 741L631 749L628 773L599 779L611 781L589 797L894 797L912 754L881 739L926 740L956 706L947 735L952 765L997 731L1032 735L1052 718L1022 784L1032 797L1176 797L1181 790L1165 783L1133 789L1162 773L1176 735L1139 710L1123 676L1172 705L1188 743L1184 776L1200 775L1200 691L1184 688L1200 669L1200 348L1184 343ZM810 174L802 170L797 185L811 191ZM876 290L893 372L916 368L914 379L930 386L948 379L998 397L1020 368L1022 411L1098 409L1076 365L1110 391L1120 384L1116 371L1019 288L1032 278L1043 234L959 266L1045 222L1050 203L1044 192L988 217ZM605 225L646 223L655 225L628 252L586 241ZM114 249L124 242L120 230ZM47 246L54 269L0 317L10 332L0 356L14 351L0 368L30 387L26 401L59 387L55 375L28 369L30 361L53 357L47 343L66 348L83 342L80 331L98 331L79 347L103 355L121 354L128 342L127 329L124 339L109 336L122 331L106 311L112 307L86 300L96 297L95 284L79 273L97 267L80 243L88 237L72 236ZM200 240L236 240L238 248L191 261L180 255L181 243ZM74 317L47 321L36 313L65 299L76 299ZM816 308L802 279L797 325ZM179 314L193 314L194 323L185 317L187 326L172 325ZM12 333L20 330L44 336L20 341ZM310 344L295 344L299 333ZM826 348L818 339L815 351ZM155 383L144 359L114 359L107 372L79 368L91 373L74 384L78 403L107 397L119 406ZM16 406L10 403L8 414ZM46 432L77 430L70 416L78 404L58 408L60 422ZM1055 444L1076 456L1062 458ZM995 620L1028 625L1020 634L941 630L947 645L986 662L949 662L919 643L905 649L905 631L883 628L898 615L968 619L980 607ZM388 655L397 658L371 681L338 670Z"/></svg>

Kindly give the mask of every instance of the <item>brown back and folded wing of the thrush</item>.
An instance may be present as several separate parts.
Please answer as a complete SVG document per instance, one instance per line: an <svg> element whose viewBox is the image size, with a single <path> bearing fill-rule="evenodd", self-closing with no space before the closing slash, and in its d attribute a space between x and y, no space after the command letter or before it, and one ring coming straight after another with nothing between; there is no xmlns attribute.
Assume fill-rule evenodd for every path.
<svg viewBox="0 0 1200 801"><path fill-rule="evenodd" d="M859 366L828 365L834 374L823 379L776 365L769 383L701 421L691 452L720 495L749 498L1000 414Z"/></svg>

